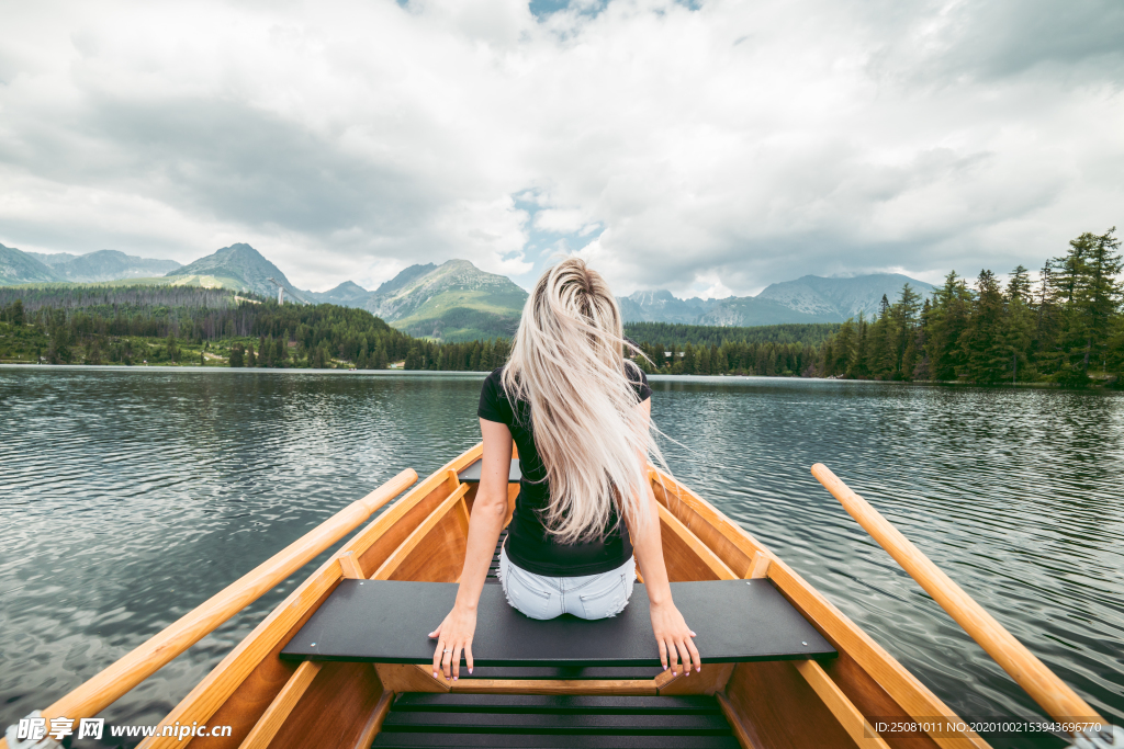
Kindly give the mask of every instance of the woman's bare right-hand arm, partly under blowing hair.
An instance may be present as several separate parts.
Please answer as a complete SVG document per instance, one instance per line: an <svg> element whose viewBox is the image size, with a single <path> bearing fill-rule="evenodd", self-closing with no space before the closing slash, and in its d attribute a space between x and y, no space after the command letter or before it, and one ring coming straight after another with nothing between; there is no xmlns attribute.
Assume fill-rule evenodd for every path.
<svg viewBox="0 0 1124 749"><path fill-rule="evenodd" d="M636 408L643 411L645 420L651 419L652 399L647 399ZM647 456L638 457L646 466ZM647 494L649 522L641 527L626 519L626 524L636 552L636 561L640 563L641 575L644 576L647 597L652 604L652 631L655 632L655 641L660 646L663 669L668 669L670 661L672 675L678 676L681 661L683 672L690 675L691 663L695 664L695 670L699 672L703 670L703 660L691 641L695 632L687 625L683 615L671 601L671 584L668 582L668 566L663 561L663 541L660 538L660 510L651 484L645 483L644 490Z"/></svg>

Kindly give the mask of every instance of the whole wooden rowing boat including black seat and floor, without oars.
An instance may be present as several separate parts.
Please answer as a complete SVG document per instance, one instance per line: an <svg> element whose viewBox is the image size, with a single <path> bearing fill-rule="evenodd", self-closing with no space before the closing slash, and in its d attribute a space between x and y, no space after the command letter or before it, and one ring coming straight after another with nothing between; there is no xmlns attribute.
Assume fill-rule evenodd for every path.
<svg viewBox="0 0 1124 749"><path fill-rule="evenodd" d="M208 748L988 746L970 731L880 736L876 716L955 715L781 559L654 467L664 557L699 632L700 673L652 659L642 593L620 621L537 622L504 603L493 559L478 665L435 678L426 633L455 594L481 455L477 445L389 504L162 724L232 727L187 739ZM514 464L510 509L517 482Z"/></svg>

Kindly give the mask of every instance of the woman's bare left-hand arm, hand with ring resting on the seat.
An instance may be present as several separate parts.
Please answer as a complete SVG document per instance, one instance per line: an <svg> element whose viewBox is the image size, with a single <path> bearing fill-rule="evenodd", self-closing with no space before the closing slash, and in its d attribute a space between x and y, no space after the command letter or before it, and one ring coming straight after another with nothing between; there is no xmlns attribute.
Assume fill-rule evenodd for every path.
<svg viewBox="0 0 1124 749"><path fill-rule="evenodd" d="M461 651L472 673L472 636L477 630L477 604L488 577L488 567L496 542L507 520L507 483L511 472L511 431L507 424L480 420L484 438L483 466L477 499L469 518L469 541L461 569L461 586L453 610L429 637L437 638L433 654L433 675L441 670L445 678L461 676Z"/></svg>

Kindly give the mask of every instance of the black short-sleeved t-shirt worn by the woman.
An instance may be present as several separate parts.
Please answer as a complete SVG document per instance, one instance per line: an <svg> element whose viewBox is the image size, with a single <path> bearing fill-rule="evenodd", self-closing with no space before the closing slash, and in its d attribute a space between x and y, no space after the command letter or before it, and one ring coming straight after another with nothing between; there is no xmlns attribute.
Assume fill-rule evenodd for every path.
<svg viewBox="0 0 1124 749"><path fill-rule="evenodd" d="M647 377L638 367L628 367L629 377L640 376L633 382L638 403L652 396ZM541 513L550 504L550 485L546 481L546 467L535 449L535 437L531 429L531 404L517 401L513 408L511 400L504 390L504 367L496 369L480 390L480 408L477 415L487 421L507 424L511 430L516 447L519 448L519 469L523 479L519 482L519 496L515 501L515 514L508 527L507 556L527 572L551 577L580 577L598 575L616 569L633 555L632 540L625 524L616 522L616 513L610 518L610 526L616 528L601 540L582 544L560 544L556 537L547 532Z"/></svg>

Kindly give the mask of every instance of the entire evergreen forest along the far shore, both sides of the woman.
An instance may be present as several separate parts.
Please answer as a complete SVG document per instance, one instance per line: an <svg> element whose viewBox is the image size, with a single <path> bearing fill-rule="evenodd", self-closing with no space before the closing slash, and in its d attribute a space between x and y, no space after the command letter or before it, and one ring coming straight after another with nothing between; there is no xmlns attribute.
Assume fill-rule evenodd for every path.
<svg viewBox="0 0 1124 749"><path fill-rule="evenodd" d="M1124 261L1115 229L1082 234L1032 283L955 272L928 299L907 284L873 319L760 328L637 322L650 374L1121 386ZM487 372L511 341L413 338L370 312L198 287L0 287L0 362Z"/></svg>

